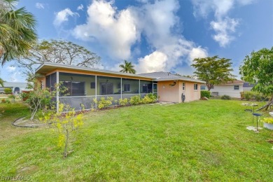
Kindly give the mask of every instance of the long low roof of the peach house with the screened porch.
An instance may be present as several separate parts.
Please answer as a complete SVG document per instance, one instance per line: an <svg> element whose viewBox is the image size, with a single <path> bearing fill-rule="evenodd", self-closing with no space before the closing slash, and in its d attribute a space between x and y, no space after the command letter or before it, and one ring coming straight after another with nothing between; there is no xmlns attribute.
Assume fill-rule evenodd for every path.
<svg viewBox="0 0 273 182"><path fill-rule="evenodd" d="M72 70L72 71L87 71L87 72L94 72L94 73L106 73L106 74L112 74L115 76L130 76L134 78L148 78L154 81L167 81L167 80L185 80L185 81L191 81L195 83L205 83L202 80L195 80L193 78L187 78L183 76L176 76L172 73L159 71L159 72L153 72L153 73L141 73L141 74L132 74L132 73L122 73L119 71L109 71L109 70L103 70L103 69L92 69L87 68L83 66L73 66L73 65L65 65L65 64L57 64L57 63L51 63L51 62L45 62L41 64L41 66L36 69L36 73L40 74L46 74L51 71L54 71L55 69L66 69L66 70Z"/></svg>

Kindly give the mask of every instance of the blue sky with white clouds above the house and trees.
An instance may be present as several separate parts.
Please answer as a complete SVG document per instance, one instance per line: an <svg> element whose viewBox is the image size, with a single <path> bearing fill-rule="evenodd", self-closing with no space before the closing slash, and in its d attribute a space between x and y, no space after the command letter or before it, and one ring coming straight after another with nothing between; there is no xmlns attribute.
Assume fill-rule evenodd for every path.
<svg viewBox="0 0 273 182"><path fill-rule="evenodd" d="M101 69L193 75L193 59L231 59L233 74L252 51L273 46L272 0L21 0L38 21L38 39L62 39L99 55ZM0 78L25 82L16 61Z"/></svg>

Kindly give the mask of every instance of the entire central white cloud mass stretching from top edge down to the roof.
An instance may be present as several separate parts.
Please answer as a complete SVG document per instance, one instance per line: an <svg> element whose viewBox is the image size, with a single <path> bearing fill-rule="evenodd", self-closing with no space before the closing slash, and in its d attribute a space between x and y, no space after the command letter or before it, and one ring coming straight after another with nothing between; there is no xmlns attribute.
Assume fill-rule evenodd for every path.
<svg viewBox="0 0 273 182"><path fill-rule="evenodd" d="M193 57L207 55L207 50L174 32L179 27L177 10L177 0L144 2L123 10L113 6L113 1L92 1L87 8L87 22L76 26L73 35L99 43L118 62L130 60L132 46L143 35L152 52L138 59L137 72L170 71L182 62L190 64ZM117 69L117 65L111 69Z"/></svg>

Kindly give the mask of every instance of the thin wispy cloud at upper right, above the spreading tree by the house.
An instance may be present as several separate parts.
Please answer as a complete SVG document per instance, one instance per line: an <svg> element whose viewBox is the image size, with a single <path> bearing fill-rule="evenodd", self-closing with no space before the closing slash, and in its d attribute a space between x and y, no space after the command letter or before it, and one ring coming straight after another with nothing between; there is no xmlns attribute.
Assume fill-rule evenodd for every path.
<svg viewBox="0 0 273 182"><path fill-rule="evenodd" d="M211 28L215 33L212 37L216 42L225 47L233 39L235 39L236 27L239 25L239 20L229 18L228 13L235 6L245 6L253 3L254 0L192 0L195 17L207 18L207 15L213 11L215 20L211 21Z"/></svg>

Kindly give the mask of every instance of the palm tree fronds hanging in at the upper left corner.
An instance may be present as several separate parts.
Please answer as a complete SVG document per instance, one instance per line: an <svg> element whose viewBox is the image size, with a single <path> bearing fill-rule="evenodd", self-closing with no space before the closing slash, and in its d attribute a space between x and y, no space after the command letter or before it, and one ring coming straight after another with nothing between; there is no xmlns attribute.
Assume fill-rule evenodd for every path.
<svg viewBox="0 0 273 182"><path fill-rule="evenodd" d="M36 20L25 8L15 10L18 0L0 1L0 61L5 62L26 55L36 43Z"/></svg>

